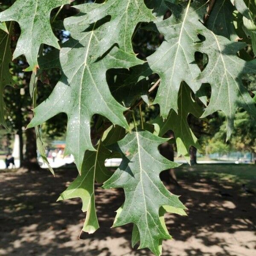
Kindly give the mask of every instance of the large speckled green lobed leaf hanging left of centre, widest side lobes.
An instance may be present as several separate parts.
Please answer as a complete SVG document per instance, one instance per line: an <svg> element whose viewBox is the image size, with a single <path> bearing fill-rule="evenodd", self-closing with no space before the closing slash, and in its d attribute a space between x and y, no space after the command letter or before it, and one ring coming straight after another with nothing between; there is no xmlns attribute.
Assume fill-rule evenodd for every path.
<svg viewBox="0 0 256 256"><path fill-rule="evenodd" d="M87 12L87 5L80 6L80 9ZM49 99L35 108L35 118L28 127L40 125L58 113L67 113L65 154L73 154L81 172L84 152L94 151L90 140L90 119L93 114L101 114L114 124L128 128L123 116L126 109L116 102L109 91L105 77L107 70L128 68L142 61L134 54L121 52L117 47L105 58L97 60L97 42L102 38L100 23L89 26L81 15L77 15L66 19L64 25L75 39L67 41L60 52L63 76ZM84 32L87 26L89 28Z"/></svg>

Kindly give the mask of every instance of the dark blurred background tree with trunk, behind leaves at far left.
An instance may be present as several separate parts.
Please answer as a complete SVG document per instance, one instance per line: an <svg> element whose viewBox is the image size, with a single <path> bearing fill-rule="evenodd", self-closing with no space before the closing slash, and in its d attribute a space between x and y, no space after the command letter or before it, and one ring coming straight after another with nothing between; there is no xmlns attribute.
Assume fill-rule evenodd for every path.
<svg viewBox="0 0 256 256"><path fill-rule="evenodd" d="M4 4L1 4L0 11L7 9L14 2L15 1L12 0L5 1ZM68 10L69 9L70 7ZM54 15L55 12L57 12L57 10L54 10L52 15ZM72 12L74 11L72 10ZM64 39L67 38L61 29L54 29L54 32L61 41L64 41ZM10 35L12 39L11 48L13 52L17 38L20 35L20 27L17 23L12 23ZM52 49L50 47L46 47L44 52L50 52L51 50ZM8 139L12 137L11 134L18 134L20 139L20 166L38 169L39 166L37 164L35 130L29 129L25 131L26 125L30 122L33 116L32 99L27 97L27 95L29 95L29 81L31 73L24 71L26 67L28 67L28 64L23 56L15 59L15 61L11 64L10 71L14 80L14 87L7 86L4 91L8 130L2 130L1 134ZM45 72L44 77L41 79L43 82L38 84L38 86L44 87L44 90L39 90L38 102L42 102L43 100L47 99L60 75L61 72L58 69L51 69ZM51 84L47 84L47 76L49 77ZM49 120L49 122L44 124L44 130L47 131L49 137L53 138L64 133L66 128L66 119L67 118L65 115L59 115L57 120L55 117L55 120ZM26 144L25 156L23 156L24 144ZM7 148L9 151L11 151L9 146Z"/></svg>

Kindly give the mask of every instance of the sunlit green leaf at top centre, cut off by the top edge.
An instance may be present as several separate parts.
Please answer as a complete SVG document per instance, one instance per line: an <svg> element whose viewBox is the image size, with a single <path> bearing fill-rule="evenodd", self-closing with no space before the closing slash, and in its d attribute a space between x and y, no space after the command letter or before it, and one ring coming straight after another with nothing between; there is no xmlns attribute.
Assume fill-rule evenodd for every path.
<svg viewBox="0 0 256 256"><path fill-rule="evenodd" d="M102 4L87 4L84 5L83 12L87 13L85 20L83 19L87 24L111 16L111 20L100 29L101 47L97 49L99 55L104 54L114 44L118 44L123 52L132 53L131 37L137 24L155 19L142 0L108 0Z"/></svg>

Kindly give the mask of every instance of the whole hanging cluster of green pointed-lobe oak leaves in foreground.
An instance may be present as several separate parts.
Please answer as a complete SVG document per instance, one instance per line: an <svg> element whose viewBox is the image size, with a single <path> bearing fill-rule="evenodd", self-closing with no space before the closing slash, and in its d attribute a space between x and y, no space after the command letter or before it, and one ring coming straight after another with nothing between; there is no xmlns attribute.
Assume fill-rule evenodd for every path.
<svg viewBox="0 0 256 256"><path fill-rule="evenodd" d="M255 102L242 83L244 74L256 73L248 46L256 48L255 4L243 0L91 2L73 5L77 14L64 19L64 24L55 22L59 12L51 17L51 11L61 10L70 0L16 0L0 12L0 124L6 126L4 87L13 84L9 63L25 55L26 70L32 71L30 95L35 107L28 128L36 128L43 157L39 126L58 113L68 118L65 154L73 154L79 175L59 200L81 198L87 212L83 230L93 233L99 228L94 183L124 189L125 202L117 210L114 226L133 223L133 246L140 242L139 248L160 255L163 239L171 238L164 214L186 215L179 198L159 177L160 172L178 166L157 149L169 140L163 138L166 132L174 132L178 155L189 161L189 147L199 146L187 121L190 114L203 118L223 111L227 138L238 108L256 117ZM12 55L14 21L21 33ZM60 46L52 26L64 26L70 39ZM141 29L164 37L143 60L132 47ZM43 45L56 49L44 54ZM36 106L37 81L50 68L59 68L62 76L49 98ZM132 111L143 102L158 104L160 113L151 124L143 123L142 117L137 126ZM116 153L122 163L112 175L104 163Z"/></svg>

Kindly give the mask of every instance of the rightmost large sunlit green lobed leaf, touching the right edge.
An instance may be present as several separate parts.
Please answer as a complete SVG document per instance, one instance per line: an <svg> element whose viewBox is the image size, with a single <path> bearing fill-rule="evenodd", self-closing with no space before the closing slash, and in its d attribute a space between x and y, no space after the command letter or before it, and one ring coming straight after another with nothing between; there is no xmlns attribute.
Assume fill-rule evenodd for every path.
<svg viewBox="0 0 256 256"><path fill-rule="evenodd" d="M244 73L256 73L256 60L244 61L237 57L237 52L246 46L244 43L232 43L209 30L205 30L203 35L207 40L201 44L200 50L208 52L209 62L198 79L212 87L211 99L203 117L218 110L223 111L227 116L229 138L238 108L244 108L256 118L255 104L242 83Z"/></svg>

